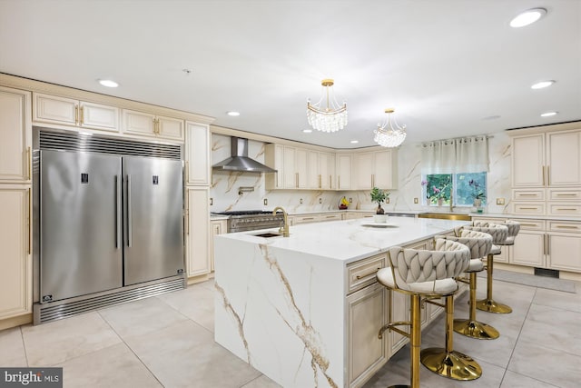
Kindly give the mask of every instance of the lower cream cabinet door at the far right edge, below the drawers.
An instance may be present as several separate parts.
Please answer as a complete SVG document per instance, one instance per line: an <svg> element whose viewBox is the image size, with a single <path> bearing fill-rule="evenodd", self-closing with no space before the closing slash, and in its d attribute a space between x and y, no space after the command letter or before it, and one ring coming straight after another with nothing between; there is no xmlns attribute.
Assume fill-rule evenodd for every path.
<svg viewBox="0 0 581 388"><path fill-rule="evenodd" d="M551 269L581 272L581 234L547 234L547 264Z"/></svg>

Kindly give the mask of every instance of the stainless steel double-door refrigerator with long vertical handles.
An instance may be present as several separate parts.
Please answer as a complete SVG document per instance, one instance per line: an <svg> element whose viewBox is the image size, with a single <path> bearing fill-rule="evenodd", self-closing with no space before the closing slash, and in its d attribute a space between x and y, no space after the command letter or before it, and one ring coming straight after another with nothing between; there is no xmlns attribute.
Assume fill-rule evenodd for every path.
<svg viewBox="0 0 581 388"><path fill-rule="evenodd" d="M40 150L39 302L183 272L182 162Z"/></svg>

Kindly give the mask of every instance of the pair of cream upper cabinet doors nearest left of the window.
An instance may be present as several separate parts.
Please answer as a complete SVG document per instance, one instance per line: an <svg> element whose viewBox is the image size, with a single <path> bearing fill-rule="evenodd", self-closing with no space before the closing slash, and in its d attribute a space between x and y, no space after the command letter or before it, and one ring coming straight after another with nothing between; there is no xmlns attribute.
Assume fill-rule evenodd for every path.
<svg viewBox="0 0 581 388"><path fill-rule="evenodd" d="M353 154L354 188L359 190L370 190L373 187L396 188L395 160L395 151L391 150Z"/></svg>

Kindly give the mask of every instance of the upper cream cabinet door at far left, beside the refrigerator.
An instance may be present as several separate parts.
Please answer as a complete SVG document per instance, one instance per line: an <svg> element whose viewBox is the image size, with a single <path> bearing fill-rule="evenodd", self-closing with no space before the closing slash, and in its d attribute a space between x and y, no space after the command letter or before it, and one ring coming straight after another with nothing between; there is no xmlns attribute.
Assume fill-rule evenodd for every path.
<svg viewBox="0 0 581 388"><path fill-rule="evenodd" d="M0 182L30 183L30 93L0 87Z"/></svg>

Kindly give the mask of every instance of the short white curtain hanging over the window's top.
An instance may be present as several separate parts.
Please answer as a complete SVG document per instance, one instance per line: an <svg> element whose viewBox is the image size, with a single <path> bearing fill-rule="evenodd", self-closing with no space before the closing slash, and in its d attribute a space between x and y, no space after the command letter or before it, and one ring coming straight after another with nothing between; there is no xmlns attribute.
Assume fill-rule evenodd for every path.
<svg viewBox="0 0 581 388"><path fill-rule="evenodd" d="M422 144L421 171L422 174L488 171L487 136L438 140Z"/></svg>

